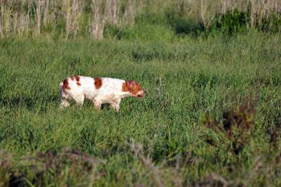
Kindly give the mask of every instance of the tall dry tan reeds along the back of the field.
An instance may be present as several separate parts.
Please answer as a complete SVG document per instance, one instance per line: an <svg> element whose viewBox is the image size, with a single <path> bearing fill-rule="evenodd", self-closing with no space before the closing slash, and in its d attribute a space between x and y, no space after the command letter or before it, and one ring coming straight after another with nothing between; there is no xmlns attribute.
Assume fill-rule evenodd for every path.
<svg viewBox="0 0 281 187"><path fill-rule="evenodd" d="M215 15L227 11L250 12L248 27L256 27L263 19L275 14L280 18L279 0L0 0L0 37L39 35L44 31L62 31L63 36L76 37L79 30L86 30L91 37L103 38L107 23L133 24L136 15L164 12L172 8L183 18L192 18L209 27ZM86 22L86 26L85 25ZM60 27L58 27L60 25ZM48 29L46 29L48 28Z"/></svg>

